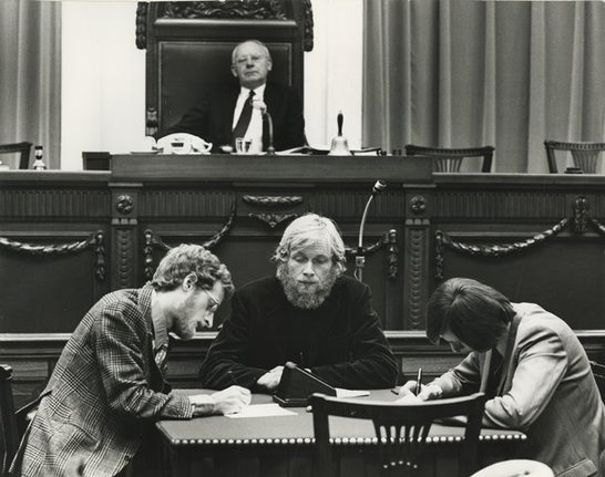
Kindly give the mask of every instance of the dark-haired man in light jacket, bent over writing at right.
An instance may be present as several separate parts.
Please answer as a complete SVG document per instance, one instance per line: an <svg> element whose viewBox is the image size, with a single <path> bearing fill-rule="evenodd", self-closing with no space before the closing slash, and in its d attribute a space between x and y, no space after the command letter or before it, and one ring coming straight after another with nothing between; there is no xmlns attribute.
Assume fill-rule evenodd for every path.
<svg viewBox="0 0 605 477"><path fill-rule="evenodd" d="M523 431L524 457L556 476L605 476L605 406L586 352L563 320L452 278L429 299L427 336L468 355L427 385L407 382L403 402L411 394L427 401L482 391L483 424Z"/></svg>

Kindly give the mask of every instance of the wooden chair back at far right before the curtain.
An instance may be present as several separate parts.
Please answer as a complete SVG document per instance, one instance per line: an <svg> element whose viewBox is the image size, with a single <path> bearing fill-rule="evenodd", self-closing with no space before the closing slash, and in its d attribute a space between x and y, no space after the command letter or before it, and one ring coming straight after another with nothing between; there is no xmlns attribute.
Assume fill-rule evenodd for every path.
<svg viewBox="0 0 605 477"><path fill-rule="evenodd" d="M548 172L551 174L557 174L560 169L562 169L561 172L564 172L568 164L570 153L572 156L572 167L580 169L571 169L570 172L595 174L602 153L605 151L605 143L564 143L561 141L544 141L544 147L546 148ZM557 154L557 152L563 152L564 154ZM562 167L558 167L560 164Z"/></svg>

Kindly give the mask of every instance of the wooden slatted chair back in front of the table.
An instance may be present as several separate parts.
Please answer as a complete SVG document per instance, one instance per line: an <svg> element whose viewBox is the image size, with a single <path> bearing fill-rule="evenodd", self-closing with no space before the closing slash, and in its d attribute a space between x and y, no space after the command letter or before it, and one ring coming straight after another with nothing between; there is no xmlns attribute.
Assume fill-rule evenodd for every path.
<svg viewBox="0 0 605 477"><path fill-rule="evenodd" d="M320 475L336 475L330 445L329 416L367 419L373 423L380 469L384 475L406 475L425 460L427 437L435 419L465 416L464 440L459 453L459 475L469 476L476 469L479 434L485 395L429 401L422 404L394 404L362 400L342 400L314 394L314 431L317 465ZM355 437L355 436L351 436Z"/></svg>

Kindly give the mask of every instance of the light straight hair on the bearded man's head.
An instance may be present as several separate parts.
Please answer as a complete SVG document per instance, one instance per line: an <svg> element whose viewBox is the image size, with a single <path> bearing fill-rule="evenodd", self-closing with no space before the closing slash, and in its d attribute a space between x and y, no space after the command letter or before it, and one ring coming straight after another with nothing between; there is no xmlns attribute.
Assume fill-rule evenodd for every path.
<svg viewBox="0 0 605 477"><path fill-rule="evenodd" d="M288 260L293 251L322 240L328 243L337 274L341 274L347 269L345 242L336 224L331 219L317 214L304 215L286 227L281 240L275 249L273 260L283 263Z"/></svg>

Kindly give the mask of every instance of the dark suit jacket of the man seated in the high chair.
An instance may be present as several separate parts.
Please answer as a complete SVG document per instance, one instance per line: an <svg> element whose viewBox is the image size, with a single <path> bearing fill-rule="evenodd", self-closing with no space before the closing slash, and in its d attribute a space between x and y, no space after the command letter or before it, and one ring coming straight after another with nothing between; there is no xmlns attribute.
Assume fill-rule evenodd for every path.
<svg viewBox="0 0 605 477"><path fill-rule="evenodd" d="M213 151L232 144L232 124L235 103L240 86L233 84L213 92L205 101L189 110L173 126L156 134L156 138L173 133L189 133L213 143ZM265 87L265 104L274 125L274 147L289 149L306 144L302 104L293 87L268 82ZM267 122L263 122L263 148L268 145Z"/></svg>

